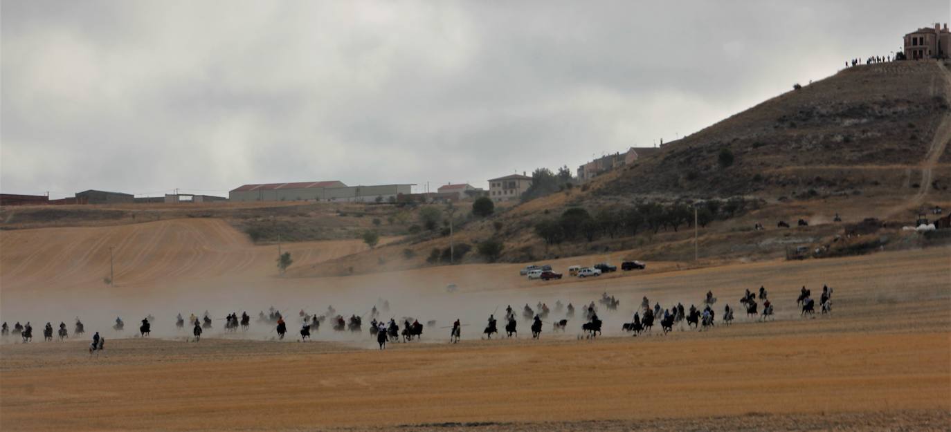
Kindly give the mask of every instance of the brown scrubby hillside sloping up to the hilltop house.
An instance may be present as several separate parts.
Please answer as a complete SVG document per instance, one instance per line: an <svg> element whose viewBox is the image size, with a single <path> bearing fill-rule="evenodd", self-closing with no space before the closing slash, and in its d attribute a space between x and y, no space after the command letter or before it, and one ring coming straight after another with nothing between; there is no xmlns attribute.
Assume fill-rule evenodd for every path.
<svg viewBox="0 0 951 432"><path fill-rule="evenodd" d="M743 197L739 211L715 218L698 233L702 261L782 258L797 246L842 247L832 245L837 235L867 217L892 227L882 233L891 235L891 243L880 249L931 244L899 227L912 223L922 206L951 206L949 101L951 72L944 64L850 67L669 142L658 154L595 178L585 188L500 209L488 219L460 219L464 226L455 241L476 246L500 240L505 249L499 259L509 262L616 251L642 259L692 260L692 228L641 229L550 246L534 226L571 207L594 216L650 200L689 205L696 199ZM733 156L729 165L719 160L724 149ZM833 222L837 214L842 223ZM797 228L800 218L809 226ZM791 222L793 228L778 229L779 221ZM757 223L766 230L755 231ZM444 236L424 235L341 257L307 273L433 265L425 258L448 246ZM475 249L462 259L481 260Z"/></svg>

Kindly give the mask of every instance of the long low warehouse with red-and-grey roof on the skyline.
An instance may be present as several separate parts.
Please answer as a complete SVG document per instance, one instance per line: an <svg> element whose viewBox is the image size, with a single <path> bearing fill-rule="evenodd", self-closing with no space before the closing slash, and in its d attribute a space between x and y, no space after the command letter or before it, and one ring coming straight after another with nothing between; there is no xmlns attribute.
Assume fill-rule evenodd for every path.
<svg viewBox="0 0 951 432"><path fill-rule="evenodd" d="M232 201L395 201L400 194L409 194L412 189L413 184L409 183L347 186L337 180L245 184L229 191L228 199Z"/></svg>

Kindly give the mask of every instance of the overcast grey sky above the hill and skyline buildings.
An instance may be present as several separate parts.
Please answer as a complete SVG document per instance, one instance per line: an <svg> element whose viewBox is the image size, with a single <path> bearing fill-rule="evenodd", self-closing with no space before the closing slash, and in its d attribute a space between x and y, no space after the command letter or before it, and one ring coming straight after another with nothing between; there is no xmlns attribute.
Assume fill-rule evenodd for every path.
<svg viewBox="0 0 951 432"><path fill-rule="evenodd" d="M574 170L889 55L949 4L3 0L0 190Z"/></svg>

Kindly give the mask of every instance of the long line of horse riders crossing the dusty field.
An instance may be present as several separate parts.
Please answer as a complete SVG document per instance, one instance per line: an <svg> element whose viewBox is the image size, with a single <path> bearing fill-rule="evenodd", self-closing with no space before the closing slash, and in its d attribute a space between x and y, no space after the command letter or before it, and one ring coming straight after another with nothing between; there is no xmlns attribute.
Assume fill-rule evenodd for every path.
<svg viewBox="0 0 951 432"><path fill-rule="evenodd" d="M757 297L759 300L757 300ZM766 288L760 287L758 292L747 290L746 293L740 298L740 304L747 311L747 319L755 319L760 321L766 321L774 318L773 304L768 299L768 293ZM762 301L762 309L760 309L760 303ZM695 306L691 305L689 309L685 309L684 305L678 303L676 305L671 305L670 308L662 308L660 303L655 303L651 308L650 300L645 296L642 301L640 308L636 310L633 314L633 317L630 322L625 322L622 324L621 329L625 332L633 333L634 336L645 332L651 331L653 329L654 321L657 320L660 323L662 331L666 334L673 330L674 326L681 325L683 322L687 322L687 328L693 329L710 329L715 325L716 313L713 310L713 305L717 302L716 297L713 296L712 292L707 292L706 297L701 302L703 309L698 309ZM617 310L617 306L620 303L613 295L608 295L607 292L602 294L601 299L598 302L600 306L605 307L609 312ZM378 309L377 306L381 308ZM832 289L824 286L822 294L820 295L819 301L820 310L823 314L831 313L832 311ZM814 315L816 312L816 303L811 298L811 291L802 288L800 295L797 298L797 308L800 309L800 315ZM320 329L320 326L330 320L330 326L335 331L348 331L348 332L362 332L362 321L363 317L369 314L368 318L371 320L369 325L370 335L377 338L379 347L385 347L387 342L410 342L414 339L417 339L422 336L422 331L424 329L423 324L419 322L418 319L413 317L403 317L402 329L395 319L391 317L388 321L380 319L380 314L382 312L388 312L390 309L389 302L383 301L381 304L375 305L373 309L363 313L362 315L353 314L350 317L345 317L337 313L337 310L334 310L333 306L327 307L327 310L322 314L309 314L304 310L299 312L299 319L301 323L301 341L306 341L310 339L312 332L316 332ZM581 325L581 333L578 335L579 338L587 337L594 338L601 334L602 321L598 317L598 305L592 301L589 305L581 307L581 314L583 316L583 323ZM497 310L497 309L496 309ZM532 336L537 339L540 337L542 332L542 326L549 320L550 317L554 315L558 319L553 319L547 321L552 324L553 331L564 332L568 327L568 323L575 316L575 307L572 303L568 303L567 306L563 305L560 300L556 301L554 304L553 310L548 307L547 304L538 302L533 309L528 304L521 311L521 318L526 322L531 323ZM222 318L224 323L224 330L226 332L236 332L239 330L246 331L251 326L251 316L247 314L246 311L242 312L239 317L237 312L232 312L227 315L227 317ZM517 337L518 336L518 318L516 317L515 311L512 309L512 306L508 306L505 309L505 333L507 337ZM138 336L148 337L151 331L151 323L154 322L155 318L151 315L146 316L142 320L142 325L139 327ZM733 321L733 309L729 305L726 305L723 310L723 315L721 317L721 322L724 325L730 325ZM264 313L262 310L258 314L258 324L263 326L274 326L272 331L277 333L278 339L283 339L287 333L287 323L284 320L284 316L281 314L280 310L275 310L270 308L267 313ZM211 315L207 310L204 311L204 314L201 318L192 314L187 318L188 324L192 327L192 335L194 336L194 341L199 341L204 330L213 328L213 320ZM426 328L436 328L436 321L430 320L426 321ZM179 314L176 318L175 326L177 329L184 329L185 327L185 318ZM450 340L452 342L457 342L461 334L461 327L465 326L459 323L456 320L453 323L453 326L450 330ZM116 332L121 332L125 329L125 323L119 317L115 320L115 325L112 326L112 329ZM446 327L445 329L450 329ZM6 322L3 323L2 336L4 338L12 335L13 337L20 337L24 343L29 343L32 341L32 327L27 322L26 325L21 325L19 322L16 322L13 325L13 328L10 329ZM73 329L73 336L80 336L85 333L85 326L83 322L77 317L75 319L75 327ZM65 323L59 324L59 329L55 332L56 336L62 341L68 338L69 333ZM496 326L495 312L490 314L488 323L482 331L482 337L485 339L492 339L494 335L498 334L498 329ZM50 323L46 324L46 327L43 330L43 336L45 341L52 341L54 337L54 329ZM93 337L93 343L89 347L89 352L102 350L105 344L105 338L99 336L97 331Z"/></svg>

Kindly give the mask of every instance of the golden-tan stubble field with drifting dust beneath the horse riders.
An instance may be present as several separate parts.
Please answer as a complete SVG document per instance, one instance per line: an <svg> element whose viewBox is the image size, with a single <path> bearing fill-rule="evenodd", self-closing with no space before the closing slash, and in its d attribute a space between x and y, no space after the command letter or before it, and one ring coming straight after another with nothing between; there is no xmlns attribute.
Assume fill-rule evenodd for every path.
<svg viewBox="0 0 951 432"><path fill-rule="evenodd" d="M6 243L4 249L7 254ZM107 329L108 315L118 313L97 310L104 316L96 319L83 311L85 305L72 305L53 316L48 310L55 308L36 305L51 303L50 297L26 283L8 295L6 283L13 277L8 274L17 273L8 273L6 259L5 321L31 318L41 336L41 322L79 313L88 316L87 329ZM554 264L573 261L578 259ZM224 282L254 272L207 276L191 285L165 284L156 274L135 290L122 291L109 306L126 316L129 327L138 318L128 310L154 311L152 339L103 331L107 351L93 359L87 338L8 340L0 347L0 428L947 429L951 249L702 269L658 263L650 272L551 284L522 280L518 267L320 279L259 276L246 285ZM458 283L459 291L445 292L448 281ZM824 283L835 288L833 315L800 318L799 287L807 285L816 295ZM651 303L689 305L711 290L719 297L720 313L724 303L735 308L744 289L760 285L776 305L775 321L747 319L738 310L736 324L710 331L677 329L662 336L654 329L636 338L619 331L644 295ZM81 293L78 298L109 293L101 282L73 291ZM493 309L503 313L500 306L518 310L522 303L534 307L535 301L556 300L580 305L602 291L622 303L617 312L603 314L605 334L597 340L577 340L579 320L565 333L553 334L546 326L540 341L525 334L517 340L476 338ZM162 302L163 296L182 299ZM243 336L209 331L201 342L186 343L184 334L171 329L176 309L168 309L211 309L217 316L248 303L252 314L273 303L292 311L332 303L345 314L359 314L380 297L390 300L391 314L398 317L425 314L440 326L460 317L470 324L464 340L450 346L447 329L427 329L421 343L393 344L379 352L365 333L341 336L320 329L318 342L301 344L290 337L273 341L260 325ZM217 301L203 302L208 299ZM291 334L296 322L295 316ZM527 332L527 325L520 329Z"/></svg>

